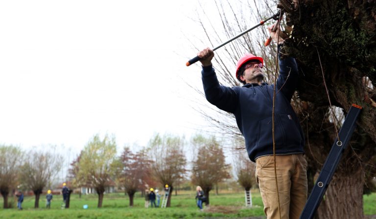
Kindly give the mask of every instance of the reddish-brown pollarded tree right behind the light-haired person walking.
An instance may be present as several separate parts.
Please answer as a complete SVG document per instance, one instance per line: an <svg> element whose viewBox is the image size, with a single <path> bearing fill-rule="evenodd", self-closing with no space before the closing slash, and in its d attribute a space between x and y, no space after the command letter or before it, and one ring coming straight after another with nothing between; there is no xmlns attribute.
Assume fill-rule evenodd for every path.
<svg viewBox="0 0 376 219"><path fill-rule="evenodd" d="M210 204L209 194L215 184L230 178L230 164L226 163L223 149L215 137L195 135L191 139L194 147L192 160L192 183L201 186Z"/></svg>

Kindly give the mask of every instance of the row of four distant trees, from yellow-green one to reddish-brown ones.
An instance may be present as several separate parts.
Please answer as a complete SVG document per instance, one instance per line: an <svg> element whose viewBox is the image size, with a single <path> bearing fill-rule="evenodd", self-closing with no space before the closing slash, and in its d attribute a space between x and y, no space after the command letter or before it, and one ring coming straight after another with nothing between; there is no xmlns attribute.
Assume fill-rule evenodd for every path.
<svg viewBox="0 0 376 219"><path fill-rule="evenodd" d="M138 152L124 147L121 156L117 157L115 137L106 135L100 139L99 135L95 135L72 162L70 178L77 187L91 185L95 188L98 207L102 206L104 188L116 181L119 187L125 189L129 205L133 206L137 191L167 184L171 194L174 185L186 179L190 172L192 183L203 188L209 204L213 186L230 178L230 165L226 163L223 149L214 137L196 135L190 140L193 158L191 169L187 169L186 144L184 137L157 134L149 140L147 147ZM166 206L169 207L170 203L171 196Z"/></svg>

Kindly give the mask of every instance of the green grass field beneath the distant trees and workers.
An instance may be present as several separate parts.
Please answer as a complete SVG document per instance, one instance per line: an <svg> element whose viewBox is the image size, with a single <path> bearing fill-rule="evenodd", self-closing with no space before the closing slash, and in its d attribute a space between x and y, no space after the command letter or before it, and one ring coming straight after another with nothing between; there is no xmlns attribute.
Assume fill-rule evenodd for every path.
<svg viewBox="0 0 376 219"><path fill-rule="evenodd" d="M178 196L173 195L171 208L144 208L144 199L139 193L136 194L134 207L129 207L129 199L123 193L105 194L103 207L98 209L96 195L71 196L70 209L62 210L62 197L55 195L51 203L51 209L45 208L45 195L41 196L40 208L34 209L34 197L25 197L23 208L19 211L13 209L1 209L1 219L194 219L194 218L238 218L251 217L263 219L263 205L258 190L252 191L252 208L244 207L243 193L224 193L210 196L211 206L204 207L199 211L195 204L194 192L179 192ZM0 201L2 206L2 199ZM83 209L87 204L88 209ZM16 204L17 205L17 204ZM365 215L376 215L376 194L364 196Z"/></svg>

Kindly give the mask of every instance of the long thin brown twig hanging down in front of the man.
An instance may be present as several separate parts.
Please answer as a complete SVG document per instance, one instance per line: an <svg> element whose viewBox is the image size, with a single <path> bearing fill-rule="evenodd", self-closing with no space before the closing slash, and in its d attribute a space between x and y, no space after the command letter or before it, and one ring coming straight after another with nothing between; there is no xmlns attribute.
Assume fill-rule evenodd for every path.
<svg viewBox="0 0 376 219"><path fill-rule="evenodd" d="M281 18L282 11L280 12L280 20ZM277 35L277 45L279 44L280 41L280 22L277 21L276 25L278 24L278 35ZM280 192L278 190L278 179L277 179L277 165L276 165L276 141L274 137L274 107L275 107L275 100L276 100L276 84L277 84L277 71L278 71L278 53L279 49L277 46L277 59L276 59L276 71L274 74L274 87L273 87L273 109L272 109L272 137L273 137L273 158L274 158L274 176L276 179L276 188L277 188L277 197L278 197L278 211L280 213L280 219L282 219L281 216L281 203L280 203Z"/></svg>

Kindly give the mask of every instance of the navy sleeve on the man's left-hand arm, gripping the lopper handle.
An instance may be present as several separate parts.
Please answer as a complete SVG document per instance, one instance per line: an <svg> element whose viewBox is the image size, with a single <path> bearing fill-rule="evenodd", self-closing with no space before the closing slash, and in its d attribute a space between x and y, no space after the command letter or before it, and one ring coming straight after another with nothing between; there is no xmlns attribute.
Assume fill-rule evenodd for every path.
<svg viewBox="0 0 376 219"><path fill-rule="evenodd" d="M203 67L201 74L206 100L221 110L234 113L238 104L238 90L220 85L212 66Z"/></svg>

